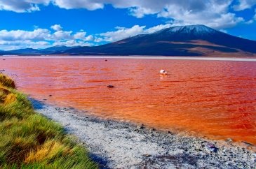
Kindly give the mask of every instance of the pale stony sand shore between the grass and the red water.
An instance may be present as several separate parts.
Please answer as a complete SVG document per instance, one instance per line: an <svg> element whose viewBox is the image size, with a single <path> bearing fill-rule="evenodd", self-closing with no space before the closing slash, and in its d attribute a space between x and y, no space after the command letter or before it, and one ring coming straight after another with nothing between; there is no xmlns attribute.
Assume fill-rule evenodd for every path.
<svg viewBox="0 0 256 169"><path fill-rule="evenodd" d="M154 131L147 126L100 119L73 108L32 100L42 115L65 126L86 145L101 168L255 168L252 149L229 141Z"/></svg>

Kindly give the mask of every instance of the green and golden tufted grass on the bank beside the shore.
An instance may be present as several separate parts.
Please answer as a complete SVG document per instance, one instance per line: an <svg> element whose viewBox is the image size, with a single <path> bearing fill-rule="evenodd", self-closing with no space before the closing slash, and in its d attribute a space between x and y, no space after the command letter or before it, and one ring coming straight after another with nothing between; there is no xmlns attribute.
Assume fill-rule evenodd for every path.
<svg viewBox="0 0 256 169"><path fill-rule="evenodd" d="M0 74L0 168L98 168L60 124L32 108Z"/></svg>

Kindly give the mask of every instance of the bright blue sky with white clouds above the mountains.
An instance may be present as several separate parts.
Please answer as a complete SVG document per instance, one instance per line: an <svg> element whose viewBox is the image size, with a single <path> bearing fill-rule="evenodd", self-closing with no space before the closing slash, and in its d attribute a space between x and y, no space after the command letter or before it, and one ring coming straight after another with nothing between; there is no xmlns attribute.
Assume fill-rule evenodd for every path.
<svg viewBox="0 0 256 169"><path fill-rule="evenodd" d="M0 0L0 50L92 46L205 24L256 41L256 0Z"/></svg>

